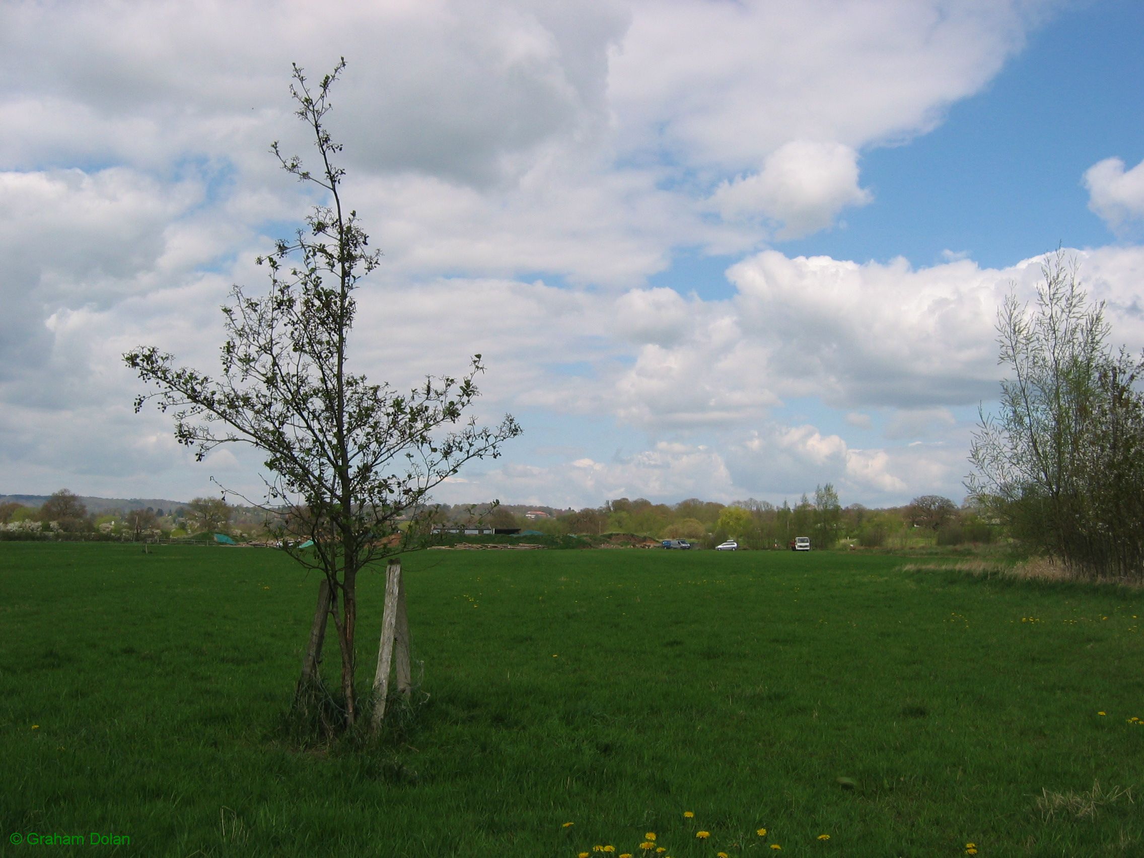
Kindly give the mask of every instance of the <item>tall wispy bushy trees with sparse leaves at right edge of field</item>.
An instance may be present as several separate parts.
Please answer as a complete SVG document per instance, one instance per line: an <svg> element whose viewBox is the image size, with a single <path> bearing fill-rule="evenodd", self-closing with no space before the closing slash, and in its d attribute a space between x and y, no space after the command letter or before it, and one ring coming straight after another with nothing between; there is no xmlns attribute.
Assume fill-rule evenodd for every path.
<svg viewBox="0 0 1144 858"><path fill-rule="evenodd" d="M1015 296L998 313L996 415L984 411L970 448L971 495L1018 535L1077 574L1144 577L1144 363L1105 347L1101 303L1089 305L1077 267L1058 252L1030 312Z"/></svg>

